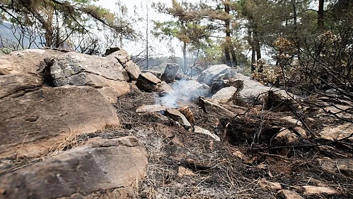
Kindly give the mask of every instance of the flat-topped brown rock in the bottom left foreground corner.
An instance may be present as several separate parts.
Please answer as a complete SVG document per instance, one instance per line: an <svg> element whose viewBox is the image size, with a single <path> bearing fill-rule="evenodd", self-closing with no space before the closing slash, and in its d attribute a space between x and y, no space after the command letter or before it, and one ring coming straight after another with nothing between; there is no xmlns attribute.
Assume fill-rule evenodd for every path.
<svg viewBox="0 0 353 199"><path fill-rule="evenodd" d="M2 199L87 196L130 189L144 178L146 149L135 137L93 138L86 145L0 177Z"/></svg>

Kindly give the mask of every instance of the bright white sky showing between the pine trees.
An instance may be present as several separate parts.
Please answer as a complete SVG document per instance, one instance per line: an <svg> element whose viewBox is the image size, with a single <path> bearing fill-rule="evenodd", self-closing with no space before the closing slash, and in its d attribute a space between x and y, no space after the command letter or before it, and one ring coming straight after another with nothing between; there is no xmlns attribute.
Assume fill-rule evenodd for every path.
<svg viewBox="0 0 353 199"><path fill-rule="evenodd" d="M110 9L112 12L117 11L117 6L116 6L116 1L117 0L98 0L95 2L97 5L101 5L104 8ZM198 0L185 0L188 2L197 2ZM153 2L162 2L166 3L167 5L171 6L172 5L172 0L121 0L122 3L124 3L127 8L128 8L128 14L130 17L134 17L134 10L135 6L137 7L138 13L145 18L146 16L146 2L149 4L149 19L150 20L159 20L159 21L164 21L164 20L169 20L171 17L165 14L160 14L157 13L156 10L154 10L151 5ZM140 22L135 25L136 29L142 30L142 32L146 32L146 23L145 22ZM149 29L153 29L153 23L149 23ZM146 37L146 35L144 35ZM160 41L158 38L154 38L152 34L149 36L150 44L151 46L154 47L153 51L150 53L150 55L154 56L182 56L182 51L181 51L181 44L174 39L169 43L169 41ZM174 53L169 52L169 47L172 46L174 48ZM123 43L123 48L125 48L130 54L136 55L139 54L141 51L143 51L146 48L146 43L145 43L145 38L141 39L141 41L138 42L125 42Z"/></svg>

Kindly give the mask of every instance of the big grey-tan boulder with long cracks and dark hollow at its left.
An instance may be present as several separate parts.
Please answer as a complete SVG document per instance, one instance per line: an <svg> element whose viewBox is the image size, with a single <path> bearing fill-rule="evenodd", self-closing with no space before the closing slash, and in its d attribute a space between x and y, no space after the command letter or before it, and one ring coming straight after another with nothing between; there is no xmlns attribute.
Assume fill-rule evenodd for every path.
<svg viewBox="0 0 353 199"><path fill-rule="evenodd" d="M44 69L46 82L56 87L64 85L91 86L99 89L112 103L116 102L117 97L130 92L130 85L127 83L130 76L139 75L138 71L130 71L134 75L129 76L114 57L68 52L51 60L48 59L45 60L48 65Z"/></svg>

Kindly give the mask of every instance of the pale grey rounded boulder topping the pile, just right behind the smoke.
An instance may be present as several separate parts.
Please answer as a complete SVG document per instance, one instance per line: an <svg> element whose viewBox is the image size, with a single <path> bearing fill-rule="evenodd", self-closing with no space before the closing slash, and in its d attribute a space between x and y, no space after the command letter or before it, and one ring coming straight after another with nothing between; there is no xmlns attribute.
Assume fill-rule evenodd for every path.
<svg viewBox="0 0 353 199"><path fill-rule="evenodd" d="M231 67L225 64L210 66L198 76L197 81L212 86L215 77L227 73L230 69Z"/></svg>

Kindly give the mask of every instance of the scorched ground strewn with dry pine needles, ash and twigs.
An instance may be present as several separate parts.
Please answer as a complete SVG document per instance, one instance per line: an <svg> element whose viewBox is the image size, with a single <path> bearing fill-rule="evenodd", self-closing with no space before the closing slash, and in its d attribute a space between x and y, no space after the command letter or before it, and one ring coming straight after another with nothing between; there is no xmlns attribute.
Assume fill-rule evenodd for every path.
<svg viewBox="0 0 353 199"><path fill-rule="evenodd" d="M259 144L251 145L249 140L261 122L258 111L249 111L240 116L225 131L225 124L229 120L206 114L196 101L188 104L195 125L216 133L221 138L217 142L207 135L189 132L177 126L160 113L135 112L138 107L155 102L153 94L140 92L118 99L115 106L121 119L121 128L80 135L61 150L79 146L98 136L136 136L149 153L147 176L139 182L136 190L137 198L141 199L280 199L277 190L271 190L261 183L264 179L279 183L282 189L296 191L302 196L302 187L306 185L330 186L340 193L333 196L307 196L307 199L353 198L351 177L325 172L320 167L320 160L325 157L353 158L352 143L312 147L328 141L309 138L299 140L297 146L292 148L273 148L277 146L269 145L276 126L290 127L290 124L280 119L293 116L289 112L268 113ZM314 119L310 122L314 134L337 122L317 114L307 114L303 118ZM283 150L286 156L279 155ZM59 152L54 150L49 155L55 153ZM8 173L46 158L2 160L2 163L7 161L7 164L0 165L0 171L3 171L2 174Z"/></svg>

